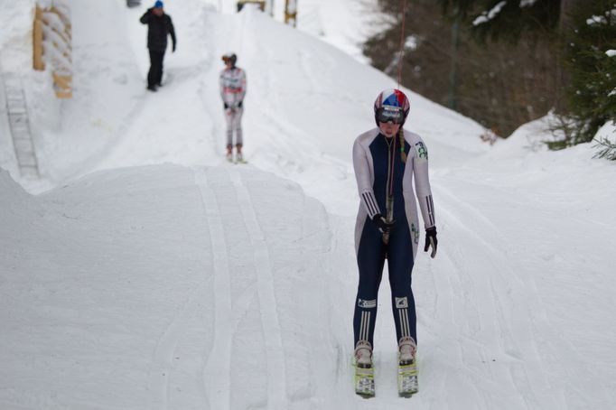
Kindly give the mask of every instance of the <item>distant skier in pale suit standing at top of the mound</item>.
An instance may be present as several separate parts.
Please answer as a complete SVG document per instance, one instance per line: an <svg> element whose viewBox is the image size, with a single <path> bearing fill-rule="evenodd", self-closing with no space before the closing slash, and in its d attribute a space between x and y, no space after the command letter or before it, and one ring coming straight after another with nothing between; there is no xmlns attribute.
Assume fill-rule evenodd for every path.
<svg viewBox="0 0 616 410"><path fill-rule="evenodd" d="M246 97L246 72L236 66L238 57L234 53L222 56L225 69L220 71L220 98L225 108L227 120L227 159L233 159L233 134L235 133L236 159L242 161L242 115L244 114L244 97Z"/></svg>

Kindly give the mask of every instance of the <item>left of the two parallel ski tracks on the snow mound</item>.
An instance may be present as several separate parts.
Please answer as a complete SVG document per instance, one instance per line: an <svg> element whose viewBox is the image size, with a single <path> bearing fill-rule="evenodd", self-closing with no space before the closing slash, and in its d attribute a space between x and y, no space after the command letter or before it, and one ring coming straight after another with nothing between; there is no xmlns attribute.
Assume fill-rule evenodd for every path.
<svg viewBox="0 0 616 410"><path fill-rule="evenodd" d="M230 408L231 342L233 339L229 253L220 219L218 198L208 185L205 169L193 169L195 183L201 191L211 238L214 266L214 341L203 369L203 383L211 410Z"/></svg>

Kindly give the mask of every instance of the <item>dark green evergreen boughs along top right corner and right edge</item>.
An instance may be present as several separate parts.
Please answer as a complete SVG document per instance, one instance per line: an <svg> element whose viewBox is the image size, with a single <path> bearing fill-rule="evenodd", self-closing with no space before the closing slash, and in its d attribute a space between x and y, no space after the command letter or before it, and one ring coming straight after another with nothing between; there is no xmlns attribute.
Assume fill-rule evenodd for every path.
<svg viewBox="0 0 616 410"><path fill-rule="evenodd" d="M616 2L614 0L441 0L445 12L454 8L472 24L481 42L505 38L517 42L532 31L552 37L561 87L555 107L573 119L565 139L552 149L593 140L598 129L616 119ZM477 10L482 8L480 14ZM561 95L560 89L566 91ZM600 156L611 157L615 146L600 141Z"/></svg>

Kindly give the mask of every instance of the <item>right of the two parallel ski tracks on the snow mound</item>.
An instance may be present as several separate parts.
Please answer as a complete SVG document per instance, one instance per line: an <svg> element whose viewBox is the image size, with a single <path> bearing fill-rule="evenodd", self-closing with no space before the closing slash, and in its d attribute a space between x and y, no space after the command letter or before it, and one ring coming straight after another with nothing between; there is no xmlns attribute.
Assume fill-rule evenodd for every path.
<svg viewBox="0 0 616 410"><path fill-rule="evenodd" d="M268 409L285 410L289 407L286 397L285 350L283 347L280 318L278 317L274 289L273 269L266 238L259 226L250 193L237 170L229 170L229 177L238 195L238 204L246 223L255 256L257 294L261 309L264 338L266 340Z"/></svg>

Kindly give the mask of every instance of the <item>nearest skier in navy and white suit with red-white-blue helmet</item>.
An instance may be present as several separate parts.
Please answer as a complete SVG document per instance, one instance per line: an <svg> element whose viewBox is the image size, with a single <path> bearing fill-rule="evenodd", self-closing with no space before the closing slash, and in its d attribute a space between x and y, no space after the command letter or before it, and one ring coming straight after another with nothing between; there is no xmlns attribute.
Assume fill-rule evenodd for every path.
<svg viewBox="0 0 616 410"><path fill-rule="evenodd" d="M434 257L437 245L428 153L419 135L402 128L408 99L398 89L385 90L378 95L374 110L378 127L359 135L353 144L360 198L355 225L359 285L353 317L354 354L356 363L366 367L372 363L378 286L386 258L399 359L401 363L415 360L411 273L420 234L414 184L426 231L424 250L433 247Z"/></svg>

